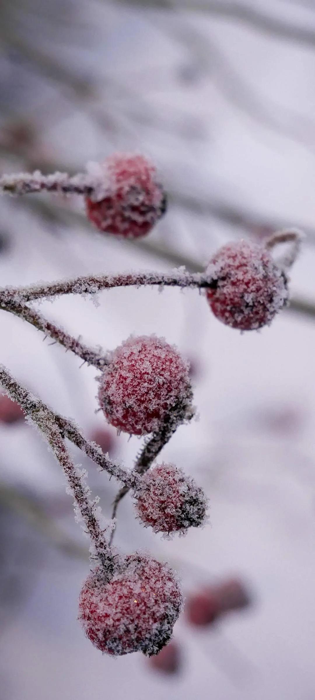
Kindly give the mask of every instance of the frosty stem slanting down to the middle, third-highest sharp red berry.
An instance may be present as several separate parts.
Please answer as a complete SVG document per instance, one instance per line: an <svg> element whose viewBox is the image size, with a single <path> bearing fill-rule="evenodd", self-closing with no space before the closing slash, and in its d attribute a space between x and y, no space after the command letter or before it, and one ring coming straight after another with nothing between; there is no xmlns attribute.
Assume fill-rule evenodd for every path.
<svg viewBox="0 0 315 700"><path fill-rule="evenodd" d="M59 328L55 323L47 321L38 311L30 309L27 304L21 304L15 299L18 299L18 296L14 297L6 290L0 290L0 309L9 311L11 314L23 318L27 323L31 323L35 328L45 333L46 336L63 345L66 350L71 350L75 355L78 355L88 365L93 365L98 370L104 369L108 360L101 352L89 348L81 343L79 339Z"/></svg>

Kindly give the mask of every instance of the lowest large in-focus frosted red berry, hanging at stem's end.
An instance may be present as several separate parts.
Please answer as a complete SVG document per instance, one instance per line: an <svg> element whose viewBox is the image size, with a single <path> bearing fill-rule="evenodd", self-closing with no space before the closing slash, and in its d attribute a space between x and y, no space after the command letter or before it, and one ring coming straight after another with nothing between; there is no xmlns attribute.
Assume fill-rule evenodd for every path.
<svg viewBox="0 0 315 700"><path fill-rule="evenodd" d="M151 656L172 638L182 605L172 569L150 556L132 554L111 579L102 567L90 573L80 592L78 619L102 652Z"/></svg>

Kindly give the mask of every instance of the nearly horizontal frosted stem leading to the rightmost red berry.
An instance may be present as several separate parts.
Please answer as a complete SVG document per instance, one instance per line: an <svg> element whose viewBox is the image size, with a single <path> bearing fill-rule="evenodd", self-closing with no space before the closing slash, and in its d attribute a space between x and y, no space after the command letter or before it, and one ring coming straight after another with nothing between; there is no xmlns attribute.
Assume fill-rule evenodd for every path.
<svg viewBox="0 0 315 700"><path fill-rule="evenodd" d="M0 294L6 293L7 297L18 297L24 302L33 301L42 297L53 297L63 294L94 294L102 289L131 286L177 286L211 288L215 285L209 274L200 272L187 272L185 269L176 269L173 272L138 272L132 274L102 274L85 275L76 279L61 280L48 284L38 284L17 289L0 289Z"/></svg>

